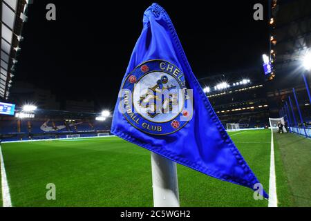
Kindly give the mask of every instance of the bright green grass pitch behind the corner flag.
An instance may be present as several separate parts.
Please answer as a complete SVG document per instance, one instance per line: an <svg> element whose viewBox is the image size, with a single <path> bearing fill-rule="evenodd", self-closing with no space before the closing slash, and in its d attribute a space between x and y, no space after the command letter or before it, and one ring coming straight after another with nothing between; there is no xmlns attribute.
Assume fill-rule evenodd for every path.
<svg viewBox="0 0 311 221"><path fill-rule="evenodd" d="M269 191L270 130L229 135ZM118 137L1 146L13 206L153 206L150 152ZM276 176L279 204L288 206L278 148ZM56 200L46 200L48 183L56 186ZM267 200L254 200L251 189L179 164L178 183L180 206L267 206Z"/></svg>

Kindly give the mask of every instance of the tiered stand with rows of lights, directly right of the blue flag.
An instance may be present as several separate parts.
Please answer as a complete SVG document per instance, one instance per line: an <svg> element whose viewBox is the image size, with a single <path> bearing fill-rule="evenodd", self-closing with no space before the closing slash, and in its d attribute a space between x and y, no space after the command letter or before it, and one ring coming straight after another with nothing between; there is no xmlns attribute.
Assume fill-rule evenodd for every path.
<svg viewBox="0 0 311 221"><path fill-rule="evenodd" d="M258 68L236 70L200 79L223 126L258 128L269 124L265 79Z"/></svg>

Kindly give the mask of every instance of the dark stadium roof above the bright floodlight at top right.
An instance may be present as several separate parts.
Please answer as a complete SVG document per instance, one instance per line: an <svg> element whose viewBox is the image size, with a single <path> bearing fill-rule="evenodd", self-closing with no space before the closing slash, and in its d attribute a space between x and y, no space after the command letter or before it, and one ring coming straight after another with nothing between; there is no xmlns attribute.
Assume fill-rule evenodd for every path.
<svg viewBox="0 0 311 221"><path fill-rule="evenodd" d="M280 66L299 66L301 57L311 47L311 1L275 1L272 8L272 44L271 54ZM271 40L272 41L272 40ZM276 52L276 55L274 54ZM274 59L272 57L272 59Z"/></svg>

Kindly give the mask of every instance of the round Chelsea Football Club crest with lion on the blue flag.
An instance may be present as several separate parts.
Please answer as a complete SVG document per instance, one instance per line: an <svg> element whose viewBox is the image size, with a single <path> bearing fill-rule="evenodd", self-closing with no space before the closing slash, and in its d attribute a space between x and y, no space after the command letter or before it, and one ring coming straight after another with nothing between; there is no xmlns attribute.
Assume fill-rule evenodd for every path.
<svg viewBox="0 0 311 221"><path fill-rule="evenodd" d="M150 60L140 64L126 77L121 91L120 108L124 117L144 133L175 133L192 117L185 76L168 61Z"/></svg>

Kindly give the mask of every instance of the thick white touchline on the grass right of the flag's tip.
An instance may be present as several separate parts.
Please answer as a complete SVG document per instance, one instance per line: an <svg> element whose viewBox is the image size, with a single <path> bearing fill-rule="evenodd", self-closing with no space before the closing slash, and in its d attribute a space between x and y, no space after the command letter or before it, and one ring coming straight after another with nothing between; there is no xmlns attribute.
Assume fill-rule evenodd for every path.
<svg viewBox="0 0 311 221"><path fill-rule="evenodd" d="M271 130L271 153L270 153L270 178L269 178L269 202L268 207L278 207L276 196L276 175L274 165L274 140L273 131Z"/></svg>

